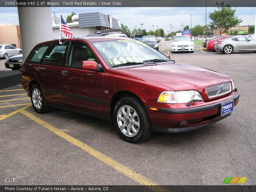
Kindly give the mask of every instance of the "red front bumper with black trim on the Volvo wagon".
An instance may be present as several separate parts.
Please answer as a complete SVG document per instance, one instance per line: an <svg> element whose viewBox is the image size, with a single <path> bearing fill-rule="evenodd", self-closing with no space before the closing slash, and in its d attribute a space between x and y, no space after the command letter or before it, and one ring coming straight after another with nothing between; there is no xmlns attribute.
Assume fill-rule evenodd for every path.
<svg viewBox="0 0 256 192"><path fill-rule="evenodd" d="M156 104L156 102L147 102L152 130L156 132L188 132L213 124L231 115L229 113L225 116L220 116L221 103L233 99L234 106L236 106L239 96L238 92L233 92L231 95L215 102L207 102L209 104L204 104L200 107L186 108L161 108L161 104L157 106L158 103ZM151 111L149 110L150 107L157 108L158 111ZM184 121L187 121L187 124L180 125Z"/></svg>

